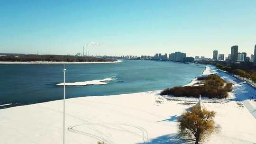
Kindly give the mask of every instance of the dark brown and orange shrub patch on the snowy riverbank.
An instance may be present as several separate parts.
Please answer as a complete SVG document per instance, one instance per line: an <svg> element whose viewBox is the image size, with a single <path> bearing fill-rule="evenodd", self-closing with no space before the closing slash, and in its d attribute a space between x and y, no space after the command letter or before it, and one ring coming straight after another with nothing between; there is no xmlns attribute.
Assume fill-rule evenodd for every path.
<svg viewBox="0 0 256 144"><path fill-rule="evenodd" d="M222 80L218 75L211 74L197 78L199 83L192 86L168 88L161 95L173 95L174 97L203 97L223 99L232 91L232 83Z"/></svg>

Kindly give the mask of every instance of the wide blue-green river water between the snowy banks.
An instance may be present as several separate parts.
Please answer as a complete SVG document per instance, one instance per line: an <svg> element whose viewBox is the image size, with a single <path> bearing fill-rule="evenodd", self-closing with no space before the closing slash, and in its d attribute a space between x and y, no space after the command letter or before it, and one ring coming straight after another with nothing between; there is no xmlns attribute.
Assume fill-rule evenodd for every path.
<svg viewBox="0 0 256 144"><path fill-rule="evenodd" d="M66 98L117 95L182 86L205 67L161 61L65 64L66 82L116 78L106 85L68 86ZM63 98L63 64L0 64L0 108Z"/></svg>

